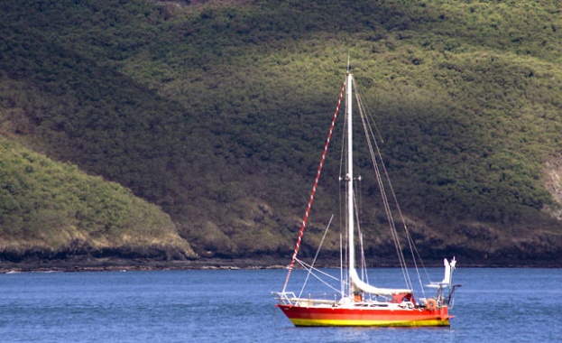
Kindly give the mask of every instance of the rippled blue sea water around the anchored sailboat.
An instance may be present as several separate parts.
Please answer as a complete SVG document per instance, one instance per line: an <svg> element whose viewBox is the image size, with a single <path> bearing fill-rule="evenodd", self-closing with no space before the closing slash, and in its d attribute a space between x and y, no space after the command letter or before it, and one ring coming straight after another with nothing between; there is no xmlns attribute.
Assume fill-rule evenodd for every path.
<svg viewBox="0 0 562 343"><path fill-rule="evenodd" d="M295 328L271 293L286 273L0 274L0 341L562 342L562 269L459 267L456 318L431 329Z"/></svg>

